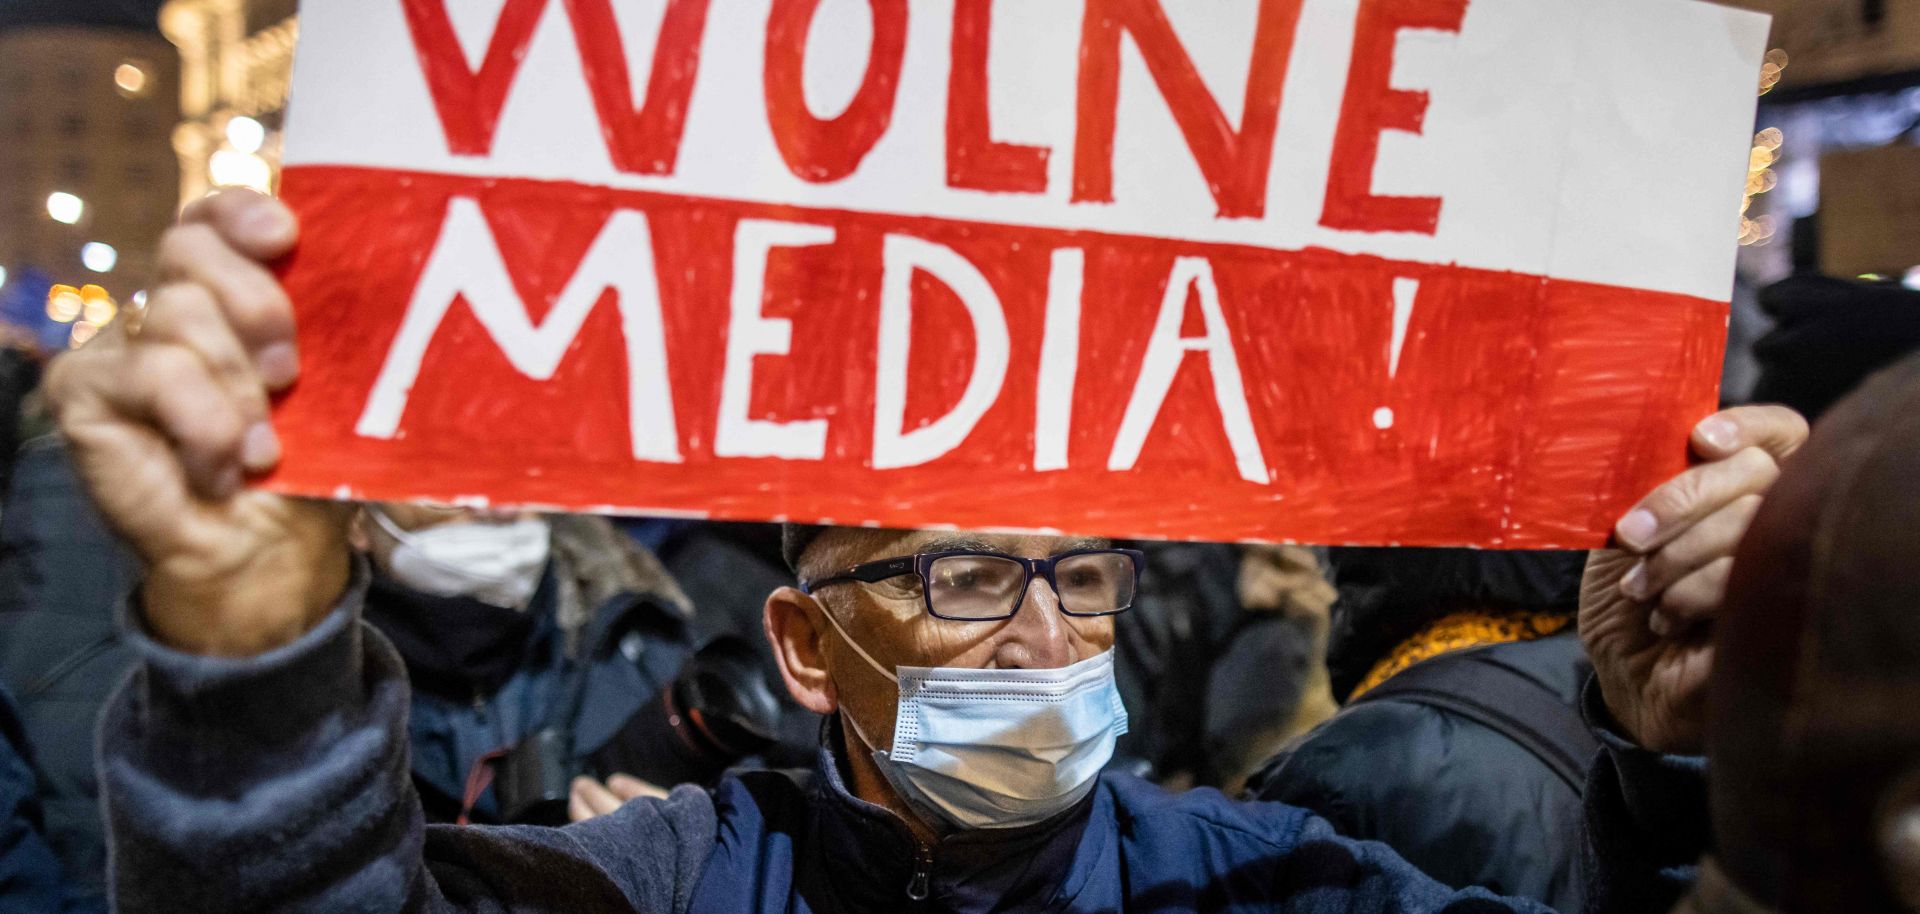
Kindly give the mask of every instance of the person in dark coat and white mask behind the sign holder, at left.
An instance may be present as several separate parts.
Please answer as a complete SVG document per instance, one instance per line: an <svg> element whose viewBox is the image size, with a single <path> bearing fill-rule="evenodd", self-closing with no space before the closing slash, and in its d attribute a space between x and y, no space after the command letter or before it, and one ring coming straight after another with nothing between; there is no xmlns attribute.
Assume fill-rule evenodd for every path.
<svg viewBox="0 0 1920 914"><path fill-rule="evenodd" d="M432 822L563 824L563 787L637 774L628 722L703 641L666 568L611 522L369 505L367 622L413 684L413 780ZM712 772L718 776L718 768ZM505 797L503 793L513 793Z"/></svg>

